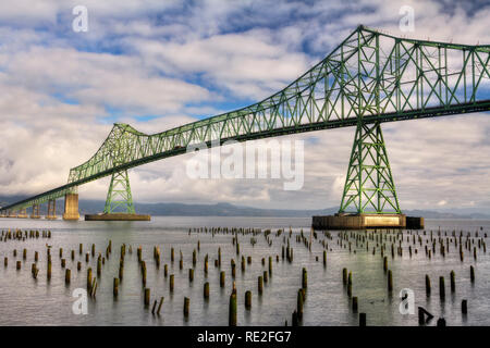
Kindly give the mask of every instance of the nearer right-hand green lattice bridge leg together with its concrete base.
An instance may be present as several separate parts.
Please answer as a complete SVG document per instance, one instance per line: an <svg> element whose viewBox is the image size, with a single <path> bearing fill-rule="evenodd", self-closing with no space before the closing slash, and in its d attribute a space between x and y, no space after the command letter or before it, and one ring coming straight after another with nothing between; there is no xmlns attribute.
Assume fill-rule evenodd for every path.
<svg viewBox="0 0 490 348"><path fill-rule="evenodd" d="M417 220L418 219L418 220ZM357 120L339 213L314 216L317 229L424 228L424 220L402 214L381 124Z"/></svg>

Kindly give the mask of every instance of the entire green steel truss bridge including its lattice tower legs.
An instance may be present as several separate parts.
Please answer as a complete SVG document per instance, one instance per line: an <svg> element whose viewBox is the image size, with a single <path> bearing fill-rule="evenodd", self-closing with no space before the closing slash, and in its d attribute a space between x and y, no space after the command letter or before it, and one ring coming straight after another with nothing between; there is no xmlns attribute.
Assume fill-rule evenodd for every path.
<svg viewBox="0 0 490 348"><path fill-rule="evenodd" d="M490 45L456 45L394 37L358 26L329 55L271 97L249 107L152 135L113 125L68 183L0 208L39 214L48 202L111 176L106 213L134 213L127 170L183 154L188 147L221 146L287 134L355 126L340 212L401 213L381 123L490 110ZM77 204L76 204L77 210ZM77 212L76 212L77 213Z"/></svg>

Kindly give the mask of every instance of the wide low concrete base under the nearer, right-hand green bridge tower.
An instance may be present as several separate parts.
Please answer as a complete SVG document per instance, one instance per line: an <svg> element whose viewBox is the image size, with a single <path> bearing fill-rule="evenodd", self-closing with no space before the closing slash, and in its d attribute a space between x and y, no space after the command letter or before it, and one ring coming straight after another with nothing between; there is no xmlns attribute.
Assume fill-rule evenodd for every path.
<svg viewBox="0 0 490 348"><path fill-rule="evenodd" d="M408 222L408 225L407 225ZM404 214L335 214L313 216L315 229L424 228L422 217Z"/></svg>

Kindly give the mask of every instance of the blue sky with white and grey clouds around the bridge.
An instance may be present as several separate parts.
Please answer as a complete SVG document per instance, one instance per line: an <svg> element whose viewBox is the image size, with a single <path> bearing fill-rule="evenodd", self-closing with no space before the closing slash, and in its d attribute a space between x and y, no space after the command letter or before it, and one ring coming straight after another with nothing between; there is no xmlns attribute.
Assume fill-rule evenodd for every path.
<svg viewBox="0 0 490 348"><path fill-rule="evenodd" d="M88 32L72 29L73 8ZM400 9L415 10L401 33ZM63 185L114 122L146 133L261 100L357 25L490 44L488 1L15 0L0 3L0 196ZM383 125L402 209L490 210L490 114ZM305 139L305 183L193 179L182 156L131 170L142 202L320 209L340 203L354 128ZM108 179L79 188L105 199Z"/></svg>

